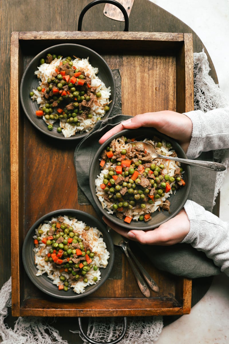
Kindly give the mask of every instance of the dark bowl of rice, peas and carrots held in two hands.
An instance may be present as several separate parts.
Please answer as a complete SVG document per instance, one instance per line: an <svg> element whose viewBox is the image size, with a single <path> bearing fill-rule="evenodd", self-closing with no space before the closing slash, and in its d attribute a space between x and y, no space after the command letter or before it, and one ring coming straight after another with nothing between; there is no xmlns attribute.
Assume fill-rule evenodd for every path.
<svg viewBox="0 0 229 344"><path fill-rule="evenodd" d="M181 146L154 128L123 130L96 152L90 169L90 190L103 215L128 229L147 230L168 221L182 209L191 188L191 168L125 143L150 140L162 155L186 158ZM102 167L102 166L103 167Z"/></svg>

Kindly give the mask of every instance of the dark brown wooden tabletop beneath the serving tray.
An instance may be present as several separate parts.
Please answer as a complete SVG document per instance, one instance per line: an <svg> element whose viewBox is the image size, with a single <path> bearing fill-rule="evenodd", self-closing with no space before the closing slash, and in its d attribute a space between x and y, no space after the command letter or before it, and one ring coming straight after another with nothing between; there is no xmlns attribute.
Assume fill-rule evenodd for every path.
<svg viewBox="0 0 229 344"><path fill-rule="evenodd" d="M1 3L1 64L0 73L0 130L1 130L1 178L0 178L0 215L1 215L1 252L0 252L0 287L11 275L10 268L10 34L13 31L76 31L78 17L82 9L89 3L78 0L55 3L48 1L4 1ZM124 23L109 19L103 15L104 4L98 4L90 9L83 18L82 31L123 31ZM96 18L96 20L95 20ZM146 20L147 19L147 20ZM129 31L146 32L185 32L193 34L194 52L200 52L204 47L199 37L183 22L147 0L135 0L129 16ZM206 49L206 54L208 55ZM217 83L214 66L208 56L210 75ZM59 319L61 320L61 319ZM10 322L14 322L15 318ZM72 320L71 320L72 321ZM10 324L10 322L8 322ZM72 324L69 324L73 326ZM64 327L64 326L63 326ZM62 329L63 339L76 342L68 328Z"/></svg>

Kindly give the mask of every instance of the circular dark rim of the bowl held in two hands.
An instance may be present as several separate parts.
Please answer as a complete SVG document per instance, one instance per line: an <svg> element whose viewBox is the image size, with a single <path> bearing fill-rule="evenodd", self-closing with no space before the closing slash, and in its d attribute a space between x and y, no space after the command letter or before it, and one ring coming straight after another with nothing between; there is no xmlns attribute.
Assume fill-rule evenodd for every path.
<svg viewBox="0 0 229 344"><path fill-rule="evenodd" d="M92 194L92 198L93 198L96 206L99 208L99 210L102 212L102 214L107 219L112 221L114 224L119 225L119 226L121 226L123 228L126 228L128 230L132 230L132 229L134 229L134 230L154 229L156 227L159 227L161 224L167 222L169 219L171 219L175 215L177 215L179 213L179 211L182 209L182 207L184 206L185 202L187 201L187 198L188 198L188 196L190 194L190 190L191 190L191 184L192 184L191 167L190 167L190 165L185 165L185 173L188 176L188 180L189 180L188 184L185 185L185 187L186 187L186 189L185 189L186 190L185 197L183 197L183 200L182 200L181 204L178 206L178 208L175 211L173 211L173 213L171 213L168 216L168 218L165 218L165 219L159 221L157 224L150 224L150 221L149 221L149 222L146 222L146 223L143 224L144 227L139 228L139 226L137 225L137 221L135 221L135 222L132 221L133 223L131 222L131 225L130 224L126 224L124 221L121 222L121 220L119 220L117 217L114 217L113 214L108 214L106 212L106 210L103 209L103 207L101 205L101 202L99 201L98 197L95 194L95 180L93 178L93 173L96 170L95 166L98 163L98 159L100 157L100 154L101 154L102 150L105 149L105 147L108 145L108 143L110 144L110 142L113 139L117 138L117 137L120 137L122 135L127 136L130 132L136 133L136 134L137 134L137 132L141 132L140 135L138 135L138 136L143 136L144 135L143 131L146 132L146 136L147 136L147 133L149 133L151 131L153 136L158 136L159 138L163 138L163 139L165 139L167 141L175 143L176 146L179 147L180 152L183 154L182 158L187 159L187 156L186 156L184 150L181 148L180 144L175 139L173 139L173 138L171 138L171 137L169 137L169 136L159 132L156 128L153 128L153 127L140 127L140 128L137 128L137 129L124 129L122 131L119 131L118 133L115 133L110 138L108 138L103 144L101 144L100 148L95 153L95 155L94 155L94 157L92 159L91 167L90 167L90 172L89 172L89 185L90 185L90 191L91 191L91 194ZM134 135L134 137L135 137L135 135Z"/></svg>

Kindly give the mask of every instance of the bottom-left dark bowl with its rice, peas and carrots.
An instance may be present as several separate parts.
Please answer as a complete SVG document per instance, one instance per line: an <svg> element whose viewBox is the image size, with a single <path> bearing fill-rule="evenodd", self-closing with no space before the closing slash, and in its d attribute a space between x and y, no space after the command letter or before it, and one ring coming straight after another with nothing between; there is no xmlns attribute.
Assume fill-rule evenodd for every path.
<svg viewBox="0 0 229 344"><path fill-rule="evenodd" d="M60 209L39 218L29 229L22 258L28 277L41 291L60 299L78 299L106 281L113 267L114 246L96 218Z"/></svg>

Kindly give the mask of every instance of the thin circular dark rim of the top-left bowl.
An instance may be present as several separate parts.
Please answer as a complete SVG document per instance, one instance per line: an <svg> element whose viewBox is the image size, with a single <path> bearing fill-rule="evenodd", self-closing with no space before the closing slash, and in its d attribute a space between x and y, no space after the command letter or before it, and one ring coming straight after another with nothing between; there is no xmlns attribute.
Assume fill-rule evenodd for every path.
<svg viewBox="0 0 229 344"><path fill-rule="evenodd" d="M112 99L112 103L110 105L110 110L107 112L107 114L105 114L102 119L105 119L105 118L108 118L112 111L113 111L113 108L114 108L114 105L115 105L115 100L116 100L116 84L115 84L115 78L114 78L114 75L112 73L112 70L110 68L110 66L108 65L108 63L104 60L104 58L98 54L96 51L94 51L93 49L85 46L85 45L82 45L82 44L76 44L76 43L60 43L60 44L55 44L55 45L51 45L49 47L47 47L46 49L42 50L41 52L39 52L38 54L36 54L36 56L34 56L32 58L32 60L30 61L30 63L26 66L25 70L24 70L24 73L22 75L22 78L21 78L21 82L20 82L20 102L21 102L21 105L22 105L22 108L23 108L23 111L26 115L26 117L28 118L28 120L32 123L32 125L38 129L40 132L42 132L44 135L52 138L52 139L57 139L57 140L64 140L64 141L67 141L67 140L81 140L83 139L84 137L86 137L87 135L89 135L91 133L91 131L93 130L93 128L91 128L88 132L85 132L83 131L82 133L76 133L75 136L70 136L70 137L64 137L64 135L52 135L52 133L50 131L45 131L45 129L41 128L40 126L38 126L32 119L32 117L29 115L27 109L26 109L26 106L24 104L24 100L23 100L23 85L24 85L24 82L25 82L25 79L26 79L26 76L27 76L27 73L29 71L29 69L31 68L31 65L40 57L40 55L43 55L45 52L49 52L50 49L57 49L59 47L62 47L62 48L67 48L67 47L80 47L80 48L83 48L83 49L86 49L87 51L89 51L90 53L94 54L100 61L102 61L108 68L108 71L110 71L110 76L111 76L111 80L112 80L112 83L113 83L113 87L114 87L114 94L113 94L113 99ZM87 57L85 57L87 58ZM89 62L90 62L90 59L89 59ZM34 71L35 72L35 71ZM111 86L111 85L108 85L108 86ZM32 101L32 100L31 100Z"/></svg>

